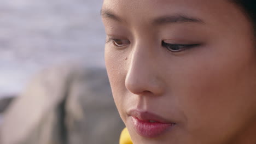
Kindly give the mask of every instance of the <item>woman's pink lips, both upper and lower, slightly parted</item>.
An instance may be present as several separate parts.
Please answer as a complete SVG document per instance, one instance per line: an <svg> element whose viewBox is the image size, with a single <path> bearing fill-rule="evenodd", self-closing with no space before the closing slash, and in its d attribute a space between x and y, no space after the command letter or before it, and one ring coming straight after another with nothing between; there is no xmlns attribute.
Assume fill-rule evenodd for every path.
<svg viewBox="0 0 256 144"><path fill-rule="evenodd" d="M176 125L147 111L132 110L129 115L133 128L143 137L157 137Z"/></svg>

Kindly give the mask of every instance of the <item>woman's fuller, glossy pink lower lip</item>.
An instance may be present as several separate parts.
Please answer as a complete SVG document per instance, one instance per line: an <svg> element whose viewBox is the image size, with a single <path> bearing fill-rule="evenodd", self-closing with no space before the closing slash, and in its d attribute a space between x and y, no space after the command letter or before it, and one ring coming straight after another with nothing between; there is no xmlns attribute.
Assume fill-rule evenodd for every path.
<svg viewBox="0 0 256 144"><path fill-rule="evenodd" d="M136 117L131 117L131 119L136 132L143 137L157 137L175 125L174 123L145 122Z"/></svg>

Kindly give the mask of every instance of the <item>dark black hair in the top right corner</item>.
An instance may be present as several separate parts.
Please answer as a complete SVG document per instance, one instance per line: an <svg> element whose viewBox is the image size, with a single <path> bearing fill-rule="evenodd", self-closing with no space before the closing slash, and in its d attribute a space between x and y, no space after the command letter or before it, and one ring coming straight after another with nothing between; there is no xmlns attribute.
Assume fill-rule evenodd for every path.
<svg viewBox="0 0 256 144"><path fill-rule="evenodd" d="M253 22L254 34L256 35L256 1L255 0L230 0L237 4L248 18Z"/></svg>

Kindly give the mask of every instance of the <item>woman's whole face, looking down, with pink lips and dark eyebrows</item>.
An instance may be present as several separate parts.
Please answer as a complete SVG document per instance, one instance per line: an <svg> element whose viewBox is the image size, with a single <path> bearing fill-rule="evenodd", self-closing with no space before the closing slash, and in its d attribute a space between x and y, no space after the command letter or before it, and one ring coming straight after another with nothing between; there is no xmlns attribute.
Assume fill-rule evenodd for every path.
<svg viewBox="0 0 256 144"><path fill-rule="evenodd" d="M106 67L135 144L253 143L252 23L228 0L104 0Z"/></svg>

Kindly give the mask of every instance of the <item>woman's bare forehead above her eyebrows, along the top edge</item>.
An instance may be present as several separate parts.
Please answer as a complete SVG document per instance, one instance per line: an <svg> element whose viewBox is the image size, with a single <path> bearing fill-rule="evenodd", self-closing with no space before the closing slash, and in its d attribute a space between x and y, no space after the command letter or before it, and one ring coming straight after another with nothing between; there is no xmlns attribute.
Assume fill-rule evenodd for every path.
<svg viewBox="0 0 256 144"><path fill-rule="evenodd" d="M241 16L240 9L225 0L104 0L102 10L111 11L130 23L148 22L154 17L174 14L197 17L206 22L231 22Z"/></svg>

